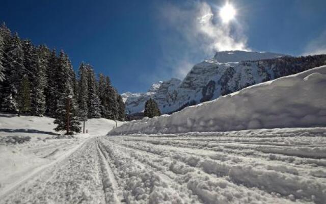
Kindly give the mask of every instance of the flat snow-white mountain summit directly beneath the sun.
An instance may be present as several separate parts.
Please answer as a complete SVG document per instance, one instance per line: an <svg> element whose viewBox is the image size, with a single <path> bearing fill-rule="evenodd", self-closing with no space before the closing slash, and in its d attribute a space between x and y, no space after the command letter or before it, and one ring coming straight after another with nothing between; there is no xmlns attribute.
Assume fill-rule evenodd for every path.
<svg viewBox="0 0 326 204"><path fill-rule="evenodd" d="M250 52L242 50L229 50L216 52L214 59L218 62L241 62L245 60L264 60L280 58L286 55L279 53L269 53L269 52Z"/></svg>

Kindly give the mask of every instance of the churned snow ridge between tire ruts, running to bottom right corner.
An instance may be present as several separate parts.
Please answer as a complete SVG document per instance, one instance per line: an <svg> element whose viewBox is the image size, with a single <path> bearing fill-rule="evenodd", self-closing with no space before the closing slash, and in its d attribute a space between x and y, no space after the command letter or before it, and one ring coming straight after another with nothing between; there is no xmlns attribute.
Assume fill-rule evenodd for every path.
<svg viewBox="0 0 326 204"><path fill-rule="evenodd" d="M185 164L187 164L188 161L186 161L187 158L182 157L182 155L184 155L185 152L187 151L189 153L192 152L192 150L189 148L186 150L184 147L172 148L171 146L169 147L169 145L162 145L160 144L161 138L155 138L155 137L151 138L152 140L155 139L157 140L154 142L156 143L156 145L153 144L149 145L145 141L132 142L133 139L138 140L137 137L126 137L127 138L126 140L124 140L123 137L118 137L118 138L119 139L116 140L112 138L112 140L115 140L117 143L123 146L127 146L131 149L139 149L139 150L143 150L144 153L146 151L149 151L159 156L171 157L173 159L177 159L180 162L186 162ZM183 150L180 152L179 151L174 152L174 149L183 149ZM205 151L205 150L203 149L201 151ZM194 151L192 153L194 153ZM323 183L322 181L324 179L322 179L323 177L322 170L321 172L319 171L321 173L319 177L321 176L321 178L318 179L317 178L318 172L316 172L316 175L312 174L308 176L307 174L304 175L305 177L303 177L303 176L291 175L288 174L288 172L282 172L283 167L278 169L278 166L276 166L277 168L274 169L273 168L267 169L268 166L265 167L262 166L262 169L259 168L257 169L255 167L255 164L253 164L254 166L251 165L246 166L245 164L234 166L234 165L228 165L223 161L217 163L214 162L213 160L206 161L206 159L203 159L203 156L201 155L197 155L197 156L200 159L202 159L202 161L200 162L197 161L195 164L196 166L197 164L200 164L199 167L201 167L201 169L207 173L214 173L220 176L230 176L231 181L233 180L235 184L242 184L248 186L249 188L258 187L271 194L273 194L274 192L280 193L283 196L289 196L289 198L292 200L307 199L307 200L315 200L316 203L322 203L322 200L326 196L325 192L323 191L324 185L322 184ZM269 162L271 165L275 165L276 163L274 161L269 161ZM306 168L307 167L308 165L306 165ZM317 169L318 168L316 168L316 170ZM323 169L323 168L319 168L319 169Z"/></svg>

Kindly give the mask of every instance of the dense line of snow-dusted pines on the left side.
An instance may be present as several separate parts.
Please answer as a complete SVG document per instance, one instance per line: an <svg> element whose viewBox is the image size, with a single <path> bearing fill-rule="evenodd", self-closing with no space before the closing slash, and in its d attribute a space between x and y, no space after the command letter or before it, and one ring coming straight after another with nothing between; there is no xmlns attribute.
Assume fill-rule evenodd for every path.
<svg viewBox="0 0 326 204"><path fill-rule="evenodd" d="M66 129L69 103L70 130L80 132L80 121L104 117L125 119L125 107L110 78L95 75L81 63L76 74L63 50L34 45L0 27L0 110L55 118L56 131Z"/></svg>

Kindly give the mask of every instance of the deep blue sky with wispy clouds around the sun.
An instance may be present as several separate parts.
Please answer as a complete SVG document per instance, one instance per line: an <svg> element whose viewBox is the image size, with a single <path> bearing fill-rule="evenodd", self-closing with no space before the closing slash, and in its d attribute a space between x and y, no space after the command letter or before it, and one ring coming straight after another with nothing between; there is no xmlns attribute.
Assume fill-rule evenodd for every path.
<svg viewBox="0 0 326 204"><path fill-rule="evenodd" d="M236 15L225 23L226 1L1 0L0 21L22 39L63 49L75 70L91 64L119 93L182 80L218 50L326 53L326 1L229 0Z"/></svg>

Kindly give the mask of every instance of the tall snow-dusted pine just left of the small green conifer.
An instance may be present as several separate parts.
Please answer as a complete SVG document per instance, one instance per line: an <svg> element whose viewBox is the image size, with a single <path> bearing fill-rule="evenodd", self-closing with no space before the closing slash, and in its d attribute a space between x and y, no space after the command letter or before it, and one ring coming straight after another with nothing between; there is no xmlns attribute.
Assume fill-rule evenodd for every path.
<svg viewBox="0 0 326 204"><path fill-rule="evenodd" d="M4 69L6 79L2 88L1 110L5 112L17 112L17 92L22 77L23 50L22 44L15 33L8 43L5 44Z"/></svg>

